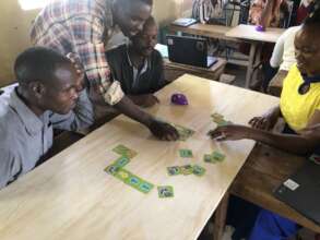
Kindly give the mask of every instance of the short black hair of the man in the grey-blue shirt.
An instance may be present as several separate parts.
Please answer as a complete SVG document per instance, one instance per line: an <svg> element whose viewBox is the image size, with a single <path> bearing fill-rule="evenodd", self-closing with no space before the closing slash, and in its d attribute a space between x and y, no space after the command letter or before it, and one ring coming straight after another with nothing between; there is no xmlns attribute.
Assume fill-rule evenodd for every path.
<svg viewBox="0 0 320 240"><path fill-rule="evenodd" d="M19 83L52 81L54 72L71 61L58 51L45 47L32 47L20 53L14 62L14 74Z"/></svg>

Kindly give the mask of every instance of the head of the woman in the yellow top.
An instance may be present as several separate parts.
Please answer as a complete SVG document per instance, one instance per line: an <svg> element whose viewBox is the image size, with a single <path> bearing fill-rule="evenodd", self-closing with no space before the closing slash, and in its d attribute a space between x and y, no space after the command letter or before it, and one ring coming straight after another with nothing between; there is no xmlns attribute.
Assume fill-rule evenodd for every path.
<svg viewBox="0 0 320 240"><path fill-rule="evenodd" d="M295 37L297 67L309 76L320 74L320 8L311 13Z"/></svg>

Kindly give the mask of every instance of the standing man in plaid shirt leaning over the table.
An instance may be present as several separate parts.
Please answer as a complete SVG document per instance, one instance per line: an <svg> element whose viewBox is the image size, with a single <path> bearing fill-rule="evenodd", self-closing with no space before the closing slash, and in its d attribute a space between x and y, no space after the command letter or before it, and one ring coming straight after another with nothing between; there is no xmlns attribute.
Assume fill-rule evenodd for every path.
<svg viewBox="0 0 320 240"><path fill-rule="evenodd" d="M142 111L125 96L112 79L105 46L120 29L127 37L142 31L150 17L152 0L57 0L36 17L31 37L34 45L47 46L63 55L74 53L84 68L90 96L95 106L112 106L141 122L161 140L177 140L178 132Z"/></svg>

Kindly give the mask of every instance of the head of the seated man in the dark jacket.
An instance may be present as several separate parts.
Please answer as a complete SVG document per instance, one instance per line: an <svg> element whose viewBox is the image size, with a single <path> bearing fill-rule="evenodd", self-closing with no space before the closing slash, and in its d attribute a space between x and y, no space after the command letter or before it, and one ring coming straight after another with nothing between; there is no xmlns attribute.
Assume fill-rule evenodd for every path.
<svg viewBox="0 0 320 240"><path fill-rule="evenodd" d="M131 37L131 46L134 51L143 57L149 57L157 43L157 25L155 20L150 16L143 29Z"/></svg>

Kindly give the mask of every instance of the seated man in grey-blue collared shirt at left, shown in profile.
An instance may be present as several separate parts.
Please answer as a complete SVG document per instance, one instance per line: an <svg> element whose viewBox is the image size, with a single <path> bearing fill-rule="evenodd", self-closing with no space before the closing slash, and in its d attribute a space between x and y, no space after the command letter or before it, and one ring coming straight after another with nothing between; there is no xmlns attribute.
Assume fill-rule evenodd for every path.
<svg viewBox="0 0 320 240"><path fill-rule="evenodd" d="M0 96L0 188L40 163L52 145L52 129L79 130L93 123L83 74L70 60L43 47L14 63L19 85Z"/></svg>

